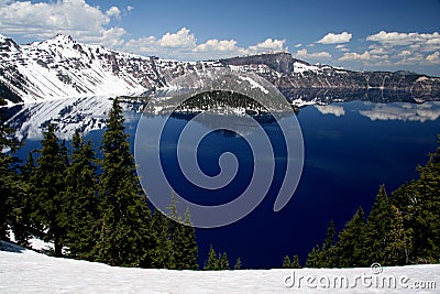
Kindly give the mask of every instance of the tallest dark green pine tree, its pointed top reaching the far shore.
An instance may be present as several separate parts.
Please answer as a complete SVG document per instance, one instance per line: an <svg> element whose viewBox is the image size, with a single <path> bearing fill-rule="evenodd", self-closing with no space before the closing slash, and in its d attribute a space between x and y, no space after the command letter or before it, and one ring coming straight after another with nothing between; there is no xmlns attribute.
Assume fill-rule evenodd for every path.
<svg viewBox="0 0 440 294"><path fill-rule="evenodd" d="M122 108L113 100L102 138L99 187L98 261L110 265L151 266L150 210L135 172L123 126Z"/></svg>

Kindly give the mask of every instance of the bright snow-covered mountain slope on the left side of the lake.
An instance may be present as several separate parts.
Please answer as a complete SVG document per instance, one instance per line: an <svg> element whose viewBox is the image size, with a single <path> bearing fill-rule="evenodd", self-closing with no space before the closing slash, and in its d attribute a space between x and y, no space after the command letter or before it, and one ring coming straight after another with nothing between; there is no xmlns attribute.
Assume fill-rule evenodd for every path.
<svg viewBox="0 0 440 294"><path fill-rule="evenodd" d="M165 61L88 45L57 35L18 45L0 36L0 95L10 102L140 95L206 64Z"/></svg>

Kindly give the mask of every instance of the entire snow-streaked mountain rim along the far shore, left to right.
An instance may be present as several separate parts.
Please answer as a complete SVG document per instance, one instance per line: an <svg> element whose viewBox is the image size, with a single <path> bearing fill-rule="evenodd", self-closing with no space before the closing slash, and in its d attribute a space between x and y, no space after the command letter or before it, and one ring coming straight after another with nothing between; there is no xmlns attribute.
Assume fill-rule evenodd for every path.
<svg viewBox="0 0 440 294"><path fill-rule="evenodd" d="M186 73L212 67L256 73L292 100L317 98L305 96L304 89L324 90L330 100L346 99L341 98L344 96L341 90L381 101L410 100L413 97L432 100L440 96L440 78L311 65L293 58L289 53L179 62L84 44L66 35L28 45L18 45L12 39L0 35L0 96L9 104L140 95L166 87L173 78ZM372 89L381 90L382 96L369 98ZM383 97L384 90L398 92L398 98Z"/></svg>

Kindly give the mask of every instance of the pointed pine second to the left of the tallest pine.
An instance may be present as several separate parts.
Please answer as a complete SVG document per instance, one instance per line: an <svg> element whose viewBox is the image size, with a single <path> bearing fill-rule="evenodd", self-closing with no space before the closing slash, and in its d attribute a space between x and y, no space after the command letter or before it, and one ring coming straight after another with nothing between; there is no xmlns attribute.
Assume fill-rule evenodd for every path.
<svg viewBox="0 0 440 294"><path fill-rule="evenodd" d="M41 143L41 156L32 178L35 187L32 217L47 229L45 240L52 240L55 255L62 257L66 236L65 224L68 221L68 216L63 209L66 202L64 178L67 166L53 124L47 127Z"/></svg>

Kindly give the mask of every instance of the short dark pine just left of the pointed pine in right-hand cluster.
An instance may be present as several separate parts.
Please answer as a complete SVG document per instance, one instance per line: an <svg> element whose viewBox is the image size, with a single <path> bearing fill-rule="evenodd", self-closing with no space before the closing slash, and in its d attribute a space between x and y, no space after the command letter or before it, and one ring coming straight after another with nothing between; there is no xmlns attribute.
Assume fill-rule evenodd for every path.
<svg viewBox="0 0 440 294"><path fill-rule="evenodd" d="M338 266L367 266L364 261L365 242L364 210L361 208L353 218L345 224L345 228L339 233L336 251L339 257Z"/></svg>

